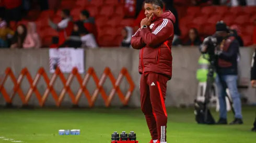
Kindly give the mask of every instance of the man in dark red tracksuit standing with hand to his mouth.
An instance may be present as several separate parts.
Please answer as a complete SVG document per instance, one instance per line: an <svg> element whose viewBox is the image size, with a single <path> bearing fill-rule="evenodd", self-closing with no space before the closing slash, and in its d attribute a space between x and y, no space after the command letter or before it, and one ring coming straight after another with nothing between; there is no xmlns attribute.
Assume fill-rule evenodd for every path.
<svg viewBox="0 0 256 143"><path fill-rule="evenodd" d="M146 0L141 28L132 36L132 47L139 51L141 108L152 136L151 143L166 142L165 96L172 74L171 44L175 17L162 11L161 0Z"/></svg>

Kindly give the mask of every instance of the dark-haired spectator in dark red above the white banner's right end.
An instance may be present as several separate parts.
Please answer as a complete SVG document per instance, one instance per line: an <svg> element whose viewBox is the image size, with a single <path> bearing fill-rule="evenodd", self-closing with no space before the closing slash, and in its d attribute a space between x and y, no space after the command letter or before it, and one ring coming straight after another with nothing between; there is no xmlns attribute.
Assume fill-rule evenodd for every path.
<svg viewBox="0 0 256 143"><path fill-rule="evenodd" d="M84 22L84 27L88 30L89 33L94 34L97 40L98 33L97 33L94 17L90 17L90 13L87 10L81 11L79 17L80 17L80 20Z"/></svg>

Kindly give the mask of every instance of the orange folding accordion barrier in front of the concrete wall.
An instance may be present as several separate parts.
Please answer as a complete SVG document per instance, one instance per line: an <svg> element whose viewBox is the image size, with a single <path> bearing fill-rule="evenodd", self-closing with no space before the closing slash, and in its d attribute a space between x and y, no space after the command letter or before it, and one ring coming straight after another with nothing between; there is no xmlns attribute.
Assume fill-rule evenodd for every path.
<svg viewBox="0 0 256 143"><path fill-rule="evenodd" d="M4 84L5 84L8 76L10 77L11 81L14 83L13 92L11 94L7 94L6 89L4 87ZM53 85L58 76L60 77L60 79L64 85L60 95L57 95L53 88ZM30 84L30 88L29 88L27 94L24 94L24 92L20 88L20 84L21 84L22 80L24 79L24 77L27 77L28 82ZM37 84L41 77L43 77L43 79L47 85L47 88L45 89L43 95L41 95L37 89ZM78 92L75 94L72 92L71 88L69 87L69 85L72 83L72 80L74 79L74 77L76 77L76 79L80 85ZM95 84L97 86L97 88L95 89L95 91L92 95L90 95L90 93L88 92L88 90L86 88L86 85L89 82L90 77L92 77L94 79ZM102 87L104 82L106 81L107 77L109 77L109 79L113 85L113 88L111 89L111 92L109 95L106 94L106 92L104 91L104 89ZM127 82L130 84L130 88L126 92L125 95L121 92L121 90L119 88L119 85L121 84L123 77L126 77ZM108 68L108 67L106 67L104 69L103 74L101 75L100 79L96 75L94 68L89 68L87 73L85 74L84 78L82 78L82 76L78 73L78 70L76 68L74 68L72 70L72 72L68 75L67 79L65 78L65 76L63 75L63 73L61 72L61 70L59 68L56 68L55 72L51 76L51 79L49 79L44 68L40 68L38 70L34 79L32 79L32 76L30 75L27 68L22 69L22 71L20 72L17 79L14 76L13 71L11 71L10 68L7 68L5 70L5 75L3 76L2 83L0 85L0 92L4 96L4 99L7 103L11 103L13 101L14 96L17 93L22 101L22 104L26 106L26 105L28 105L28 102L32 96L32 93L34 93L36 95L36 97L39 101L39 105L41 107L44 106L45 100L46 100L46 98L48 98L50 93L53 96L53 99L55 100L57 107L60 107L62 100L64 98L64 95L66 93L69 95L69 97L71 98L72 103L74 105L78 105L79 99L82 96L82 94L84 93L84 95L86 96L86 98L88 100L89 107L94 106L94 103L99 94L101 94L106 107L109 107L111 100L113 99L115 93L117 93L122 104L125 106L129 102L129 99L133 93L133 90L134 90L134 82L126 68L122 68L120 74L118 75L118 78L115 79L115 77L113 76L113 74L110 71L110 68Z"/></svg>

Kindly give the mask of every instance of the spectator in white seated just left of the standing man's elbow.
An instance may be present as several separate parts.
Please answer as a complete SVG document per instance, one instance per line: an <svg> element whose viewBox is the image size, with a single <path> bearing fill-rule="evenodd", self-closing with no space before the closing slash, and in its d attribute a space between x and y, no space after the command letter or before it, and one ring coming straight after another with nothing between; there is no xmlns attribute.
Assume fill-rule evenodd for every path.
<svg viewBox="0 0 256 143"><path fill-rule="evenodd" d="M132 35L133 35L133 28L125 27L122 30L123 41L121 43L121 47L130 47L131 46Z"/></svg>

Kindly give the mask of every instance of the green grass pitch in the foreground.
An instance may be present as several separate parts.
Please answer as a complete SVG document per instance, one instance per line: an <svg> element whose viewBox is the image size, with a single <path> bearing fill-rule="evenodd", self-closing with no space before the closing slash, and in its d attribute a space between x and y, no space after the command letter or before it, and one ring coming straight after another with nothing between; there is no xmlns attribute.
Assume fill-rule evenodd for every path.
<svg viewBox="0 0 256 143"><path fill-rule="evenodd" d="M169 143L252 143L250 132L255 107L243 108L243 125L198 125L193 109L168 108ZM215 119L218 113L213 111ZM228 121L232 113L228 113ZM80 129L80 135L58 134L59 129ZM110 143L111 134L134 131L137 140L150 140L140 109L0 109L0 142L27 143ZM12 140L13 139L13 140Z"/></svg>

